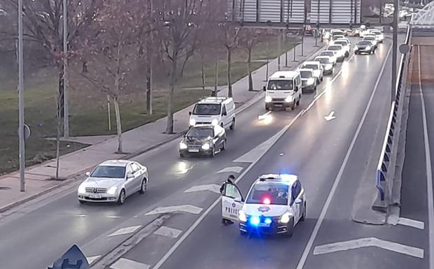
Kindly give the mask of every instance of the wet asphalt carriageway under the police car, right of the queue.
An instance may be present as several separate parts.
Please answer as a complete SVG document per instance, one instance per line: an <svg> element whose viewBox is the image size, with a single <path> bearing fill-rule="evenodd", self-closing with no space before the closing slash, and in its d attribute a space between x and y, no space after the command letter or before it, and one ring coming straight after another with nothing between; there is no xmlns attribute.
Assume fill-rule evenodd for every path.
<svg viewBox="0 0 434 269"><path fill-rule="evenodd" d="M192 269L428 268L426 231L367 226L351 220L361 178L375 170L389 114L391 55L384 62L388 52L386 41L375 56L358 55L345 63L342 73L325 83L328 91L324 96L249 166L238 183L246 194L258 175L296 173L307 191L308 218L296 226L293 238L240 236L236 225L220 224L221 205L210 199L211 207L202 219L180 215L165 224L185 232L178 241L150 235L122 259L155 269L179 268L181 264ZM336 119L326 122L324 116L331 111ZM372 184L374 180L372 176ZM360 248L314 254L321 245L363 238L375 238L377 247L360 247L361 243ZM113 264L113 268L117 266Z"/></svg>

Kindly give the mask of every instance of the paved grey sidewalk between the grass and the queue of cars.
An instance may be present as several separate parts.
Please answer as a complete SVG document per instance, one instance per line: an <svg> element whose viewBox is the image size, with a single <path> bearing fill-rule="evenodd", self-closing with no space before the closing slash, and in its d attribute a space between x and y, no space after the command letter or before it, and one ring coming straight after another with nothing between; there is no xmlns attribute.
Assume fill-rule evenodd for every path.
<svg viewBox="0 0 434 269"><path fill-rule="evenodd" d="M319 43L319 42L318 42ZM304 56L301 56L301 45L296 48L296 61L294 59L294 49L288 53L288 67L285 67L284 54L280 57L282 70L293 69L302 61L310 57L321 47L314 47L314 38L307 37L304 41ZM319 46L321 44L319 43ZM277 71L277 59L270 61L268 64L268 75ZM247 108L251 103L261 98L262 87L266 80L266 65L253 72L254 92L249 92L248 78L242 78L233 83L233 99L236 102L236 111L240 112ZM219 96L226 96L227 87L222 87ZM182 136L188 127L188 112L193 109L193 105L175 113L174 117L174 134L164 134L166 129L166 118L157 120L150 124L140 126L122 134L124 152L127 154L115 154L117 149L117 137L107 137L103 139L94 139L94 145L85 149L72 152L60 157L59 177L64 181L50 180L55 175L55 160L46 161L27 168L26 191L20 192L20 174L18 172L9 173L0 177L0 212L13 208L37 196L41 196L52 189L70 183L78 178L86 170L89 170L107 159L127 159L149 150L168 143L175 138ZM86 141L92 138L82 138ZM80 141L80 138L75 138Z"/></svg>

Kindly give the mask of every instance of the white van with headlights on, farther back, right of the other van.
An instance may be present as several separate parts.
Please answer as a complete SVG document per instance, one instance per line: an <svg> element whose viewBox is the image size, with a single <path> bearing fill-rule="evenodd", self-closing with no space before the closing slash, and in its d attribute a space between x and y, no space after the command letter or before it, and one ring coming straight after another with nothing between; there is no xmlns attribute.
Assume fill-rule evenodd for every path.
<svg viewBox="0 0 434 269"><path fill-rule="evenodd" d="M300 104L301 76L299 71L277 71L268 78L263 87L266 92L266 110L271 108L291 108Z"/></svg>

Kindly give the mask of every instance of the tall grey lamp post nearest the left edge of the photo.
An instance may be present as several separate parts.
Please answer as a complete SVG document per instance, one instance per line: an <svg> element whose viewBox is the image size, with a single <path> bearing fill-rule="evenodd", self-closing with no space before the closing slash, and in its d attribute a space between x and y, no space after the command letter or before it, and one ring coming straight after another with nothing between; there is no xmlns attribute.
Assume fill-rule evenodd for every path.
<svg viewBox="0 0 434 269"><path fill-rule="evenodd" d="M26 181L24 177L24 170L26 168L26 156L24 144L24 85L22 53L22 0L18 0L18 137L20 139L20 191L25 191Z"/></svg>

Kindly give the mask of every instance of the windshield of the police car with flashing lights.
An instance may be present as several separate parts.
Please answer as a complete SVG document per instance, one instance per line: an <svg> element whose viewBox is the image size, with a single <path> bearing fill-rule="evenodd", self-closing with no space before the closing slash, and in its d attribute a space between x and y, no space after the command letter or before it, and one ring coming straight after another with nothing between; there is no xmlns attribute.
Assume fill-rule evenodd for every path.
<svg viewBox="0 0 434 269"><path fill-rule="evenodd" d="M287 205L289 186L282 183L261 183L254 185L246 203L264 203L269 205Z"/></svg>

